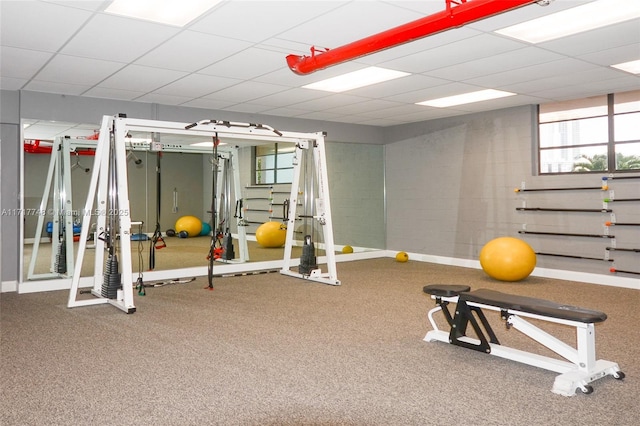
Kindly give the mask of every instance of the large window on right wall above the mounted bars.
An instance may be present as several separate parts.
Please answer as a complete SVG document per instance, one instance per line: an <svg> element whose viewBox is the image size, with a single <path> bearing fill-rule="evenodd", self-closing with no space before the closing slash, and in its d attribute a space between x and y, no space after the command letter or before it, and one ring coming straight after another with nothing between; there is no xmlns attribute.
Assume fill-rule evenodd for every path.
<svg viewBox="0 0 640 426"><path fill-rule="evenodd" d="M640 90L539 106L540 174L640 170Z"/></svg>

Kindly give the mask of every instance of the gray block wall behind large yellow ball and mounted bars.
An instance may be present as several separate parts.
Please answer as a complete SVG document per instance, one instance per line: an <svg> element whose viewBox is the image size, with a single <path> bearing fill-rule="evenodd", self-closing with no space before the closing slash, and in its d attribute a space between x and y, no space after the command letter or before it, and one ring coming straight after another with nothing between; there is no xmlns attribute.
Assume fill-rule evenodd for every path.
<svg viewBox="0 0 640 426"><path fill-rule="evenodd" d="M610 275L608 238L536 236L529 231L604 234L608 213L520 212L516 207L601 209L608 191L527 188L600 187L603 174L535 176L534 107L417 123L386 131L387 249L478 260L493 238L514 236L535 251L603 260L538 256L538 266ZM638 197L637 180L613 180L615 196ZM611 206L613 204L613 206ZM638 222L640 209L610 203L620 222ZM637 247L640 232L612 227L618 246ZM618 269L637 270L637 254L616 252ZM636 257L634 258L633 255ZM635 265L633 265L635 263Z"/></svg>

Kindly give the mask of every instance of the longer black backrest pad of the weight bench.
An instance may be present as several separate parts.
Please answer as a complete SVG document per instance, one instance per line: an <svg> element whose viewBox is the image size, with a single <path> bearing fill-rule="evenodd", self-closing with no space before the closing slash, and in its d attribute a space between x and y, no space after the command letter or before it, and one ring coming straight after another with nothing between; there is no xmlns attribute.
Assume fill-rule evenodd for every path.
<svg viewBox="0 0 640 426"><path fill-rule="evenodd" d="M426 290L425 290L426 291ZM583 323L602 322L607 314L577 306L563 305L549 300L479 289L460 293L459 301L468 301L495 306L502 309L527 312L545 317L559 318Z"/></svg>

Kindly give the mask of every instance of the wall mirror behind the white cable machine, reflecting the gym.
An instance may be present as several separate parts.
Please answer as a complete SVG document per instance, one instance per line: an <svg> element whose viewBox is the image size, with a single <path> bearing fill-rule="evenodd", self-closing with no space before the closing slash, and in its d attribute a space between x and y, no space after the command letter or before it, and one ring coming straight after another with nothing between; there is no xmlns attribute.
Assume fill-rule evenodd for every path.
<svg viewBox="0 0 640 426"><path fill-rule="evenodd" d="M69 278L75 266L73 260L80 238L81 213L89 190L100 126L24 120L23 127L23 196L25 212L29 213L25 214L23 224L23 279ZM334 145L341 145L343 150L366 148ZM261 226L267 222L281 224L287 216L293 177L293 143L225 141L220 137L217 162L210 137L132 131L127 134L126 147L130 215L136 223L131 231L134 273L206 267L211 233L220 230L231 237L225 240L231 255L229 250L225 251L226 257L220 259L221 262L264 262L283 258L283 244L278 240L284 236L286 228L276 227L267 232L267 227ZM340 149L336 151L335 155L342 156ZM377 157L375 161L378 161ZM218 169L215 198L212 191L214 166ZM338 164L334 170L341 168ZM331 166L328 169L331 172ZM382 181L381 171L372 171L375 179ZM296 221L292 256L301 255L307 235L318 243L319 254L323 254L322 232L318 232L312 219L316 208L314 185L316 183L306 177L298 183L300 217ZM357 188L357 184L354 187ZM341 198L350 197L341 195L344 192L338 189L333 208L342 212L357 209L355 204L352 207L342 205ZM352 202L353 199L349 204ZM215 219L212 203L217 206ZM338 219L334 224L334 228L353 228L353 235L349 235L349 231L341 233L345 237L343 240L334 229L338 254L347 245L356 250L383 247L382 217L378 219L378 235L363 233L357 226L350 227L347 222L351 219ZM89 239L100 238L95 222L90 226ZM211 229L212 226L218 229ZM72 244L68 243L70 239ZM92 242L87 242L87 247L91 246ZM91 262L89 250L83 260L82 276L91 274Z"/></svg>

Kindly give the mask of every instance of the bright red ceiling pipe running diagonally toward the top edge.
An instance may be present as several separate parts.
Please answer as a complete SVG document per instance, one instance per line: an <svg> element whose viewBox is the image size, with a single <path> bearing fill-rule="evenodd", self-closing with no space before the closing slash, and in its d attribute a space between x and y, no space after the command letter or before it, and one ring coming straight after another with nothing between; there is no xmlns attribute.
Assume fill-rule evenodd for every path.
<svg viewBox="0 0 640 426"><path fill-rule="evenodd" d="M288 55L287 64L296 74L314 71L346 62L390 47L415 41L470 22L538 3L540 0L445 0L442 12L354 41L335 49L311 48L311 56Z"/></svg>

